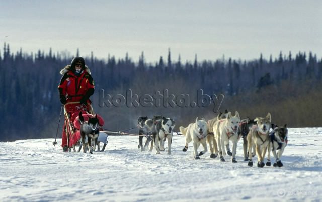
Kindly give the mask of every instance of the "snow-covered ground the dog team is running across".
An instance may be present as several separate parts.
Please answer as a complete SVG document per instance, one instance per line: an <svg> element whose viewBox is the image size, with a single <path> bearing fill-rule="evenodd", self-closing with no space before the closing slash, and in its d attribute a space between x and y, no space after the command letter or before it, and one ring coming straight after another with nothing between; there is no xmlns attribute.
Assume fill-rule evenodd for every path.
<svg viewBox="0 0 322 202"><path fill-rule="evenodd" d="M194 160L184 136L171 156L140 152L136 136L110 136L92 155L63 153L54 139L0 142L0 201L321 201L322 128L291 128L288 139L281 168L258 168L256 157L248 167L243 140L236 164L209 151Z"/></svg>

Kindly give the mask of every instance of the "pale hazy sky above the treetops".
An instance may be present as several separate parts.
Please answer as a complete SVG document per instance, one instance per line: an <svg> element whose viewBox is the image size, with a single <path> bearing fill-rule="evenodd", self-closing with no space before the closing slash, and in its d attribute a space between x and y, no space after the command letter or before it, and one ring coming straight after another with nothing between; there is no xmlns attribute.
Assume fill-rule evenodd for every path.
<svg viewBox="0 0 322 202"><path fill-rule="evenodd" d="M183 62L312 51L322 57L322 1L5 1L0 40L16 52ZM2 45L0 44L0 47ZM1 52L3 50L1 49Z"/></svg>

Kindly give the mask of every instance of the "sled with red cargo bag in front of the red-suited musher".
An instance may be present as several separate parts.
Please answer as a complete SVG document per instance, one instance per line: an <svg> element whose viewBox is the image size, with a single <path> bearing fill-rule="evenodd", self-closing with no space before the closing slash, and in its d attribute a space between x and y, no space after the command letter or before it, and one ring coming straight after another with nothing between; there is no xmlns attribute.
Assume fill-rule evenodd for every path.
<svg viewBox="0 0 322 202"><path fill-rule="evenodd" d="M64 105L64 116L65 116L65 132L67 136L68 152L71 152L71 148L76 152L82 149L81 141L81 122L79 122L79 112L82 112L82 116L85 121L88 121L90 117L94 117L92 105L81 104L80 102L69 102ZM102 132L104 120L100 115L96 115L99 120L99 137L97 141L97 151L104 151L108 144L108 134ZM100 149L101 145L103 146Z"/></svg>

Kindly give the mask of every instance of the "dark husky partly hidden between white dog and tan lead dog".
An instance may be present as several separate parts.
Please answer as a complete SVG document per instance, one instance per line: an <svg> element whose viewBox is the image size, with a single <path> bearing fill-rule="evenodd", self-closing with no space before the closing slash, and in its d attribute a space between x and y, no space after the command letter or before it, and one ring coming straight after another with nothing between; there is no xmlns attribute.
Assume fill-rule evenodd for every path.
<svg viewBox="0 0 322 202"><path fill-rule="evenodd" d="M246 119L243 119L240 121L239 125L239 131L238 135L243 137L243 150L244 150L244 161L248 161L248 145L247 145L247 134L250 132L250 129L253 127L253 125L256 125L256 122L254 119L250 119L247 117ZM253 146L252 156L255 156L255 145Z"/></svg>

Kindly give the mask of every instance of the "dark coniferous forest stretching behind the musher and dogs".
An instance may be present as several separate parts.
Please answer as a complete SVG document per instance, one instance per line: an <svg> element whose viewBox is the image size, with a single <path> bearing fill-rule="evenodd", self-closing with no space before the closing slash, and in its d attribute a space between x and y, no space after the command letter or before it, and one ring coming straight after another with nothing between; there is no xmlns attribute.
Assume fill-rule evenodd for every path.
<svg viewBox="0 0 322 202"><path fill-rule="evenodd" d="M275 55L276 54L276 55ZM60 70L69 65L73 56L64 53L13 53L4 44L0 53L0 141L30 138L54 138L61 109L57 86ZM272 114L277 125L289 127L322 126L321 76L322 60L314 53L272 53L256 60L240 60L214 56L214 59L181 61L180 55L160 57L156 63L147 63L144 53L133 59L107 55L97 59L93 53L85 57L95 81L91 97L94 111L104 120L104 128L123 130L137 125L139 116L163 115L176 121L176 128L194 122L196 117L206 120L217 116L213 104L209 106L106 106L107 94L154 95L155 92L189 94L197 100L197 91L223 95L218 111L228 109L241 118L255 118ZM102 92L104 90L104 96ZM103 103L103 104L102 104ZM216 111L215 111L216 112ZM63 115L58 138L61 138ZM136 133L135 130L131 131Z"/></svg>

